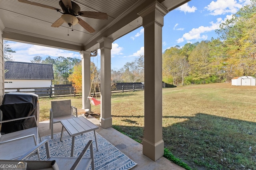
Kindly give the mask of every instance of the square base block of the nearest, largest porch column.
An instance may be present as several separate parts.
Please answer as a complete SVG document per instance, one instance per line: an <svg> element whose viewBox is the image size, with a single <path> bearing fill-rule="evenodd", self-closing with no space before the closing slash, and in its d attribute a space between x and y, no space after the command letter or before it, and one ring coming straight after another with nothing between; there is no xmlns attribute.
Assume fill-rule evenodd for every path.
<svg viewBox="0 0 256 170"><path fill-rule="evenodd" d="M143 154L150 159L156 161L164 155L164 141L161 140L158 143L151 143L146 139L143 140Z"/></svg>

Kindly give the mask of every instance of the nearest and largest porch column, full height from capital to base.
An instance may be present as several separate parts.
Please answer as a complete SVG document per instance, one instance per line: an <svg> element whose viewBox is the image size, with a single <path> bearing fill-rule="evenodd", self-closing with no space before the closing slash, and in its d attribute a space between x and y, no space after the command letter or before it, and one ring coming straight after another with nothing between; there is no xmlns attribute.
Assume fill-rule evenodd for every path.
<svg viewBox="0 0 256 170"><path fill-rule="evenodd" d="M162 27L168 10L158 1L140 12L144 27L145 95L143 154L156 161L162 140Z"/></svg>

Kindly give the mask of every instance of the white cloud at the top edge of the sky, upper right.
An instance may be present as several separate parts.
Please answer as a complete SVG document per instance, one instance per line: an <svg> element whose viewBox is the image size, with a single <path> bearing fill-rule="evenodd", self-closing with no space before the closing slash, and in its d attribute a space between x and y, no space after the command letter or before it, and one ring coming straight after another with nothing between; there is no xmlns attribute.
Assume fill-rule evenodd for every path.
<svg viewBox="0 0 256 170"><path fill-rule="evenodd" d="M245 1L245 3L247 2ZM204 8L210 11L210 15L217 16L227 13L235 14L242 8L242 4L239 4L236 0L217 0L216 2L212 1Z"/></svg>

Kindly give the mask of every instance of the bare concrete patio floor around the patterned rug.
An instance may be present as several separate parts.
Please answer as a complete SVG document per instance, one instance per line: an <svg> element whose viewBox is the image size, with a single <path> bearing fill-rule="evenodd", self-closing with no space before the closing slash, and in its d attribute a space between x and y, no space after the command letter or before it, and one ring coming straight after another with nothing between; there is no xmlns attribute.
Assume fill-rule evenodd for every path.
<svg viewBox="0 0 256 170"><path fill-rule="evenodd" d="M100 121L91 115L87 117L89 121L99 126L96 130L98 134L104 137L112 145L114 145L121 152L126 154L130 159L137 163L132 170L184 170L184 168L174 164L170 160L161 157L160 159L153 161L144 154L142 154L142 144L134 141L130 137L120 133L116 129L109 127L103 129L100 127ZM54 124L54 133L61 132L61 123ZM49 121L42 121L39 123L39 132L41 137L50 135Z"/></svg>

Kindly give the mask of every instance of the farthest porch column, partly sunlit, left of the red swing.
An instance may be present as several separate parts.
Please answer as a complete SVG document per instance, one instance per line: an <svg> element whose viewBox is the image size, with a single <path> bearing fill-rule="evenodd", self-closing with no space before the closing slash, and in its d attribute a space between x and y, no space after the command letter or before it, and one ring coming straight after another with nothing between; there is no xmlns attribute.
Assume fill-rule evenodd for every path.
<svg viewBox="0 0 256 170"><path fill-rule="evenodd" d="M80 51L82 57L82 109L89 109L91 113L90 100L87 100L87 96L91 88L91 52Z"/></svg>

